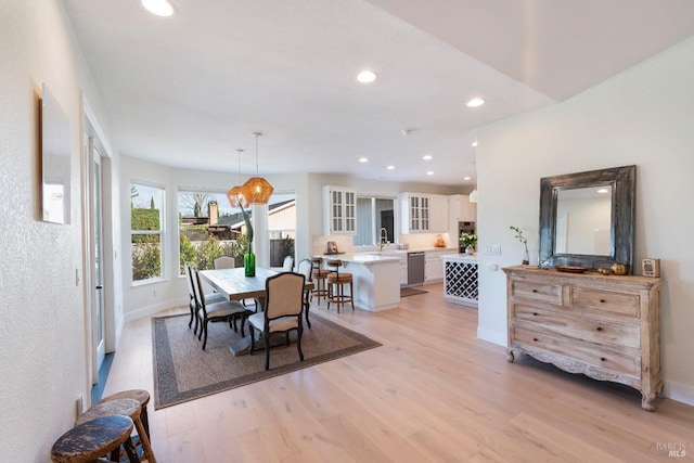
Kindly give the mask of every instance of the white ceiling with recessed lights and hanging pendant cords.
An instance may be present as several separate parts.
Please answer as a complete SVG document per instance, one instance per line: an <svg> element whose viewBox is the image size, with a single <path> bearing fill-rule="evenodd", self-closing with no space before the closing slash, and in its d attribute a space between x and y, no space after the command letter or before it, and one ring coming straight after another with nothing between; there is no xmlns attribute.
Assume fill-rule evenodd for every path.
<svg viewBox="0 0 694 463"><path fill-rule="evenodd" d="M694 35L692 0L171 0L170 18L63 1L114 147L234 175L235 149L255 171L259 131L261 175L470 184L476 127ZM376 82L357 83L362 68Z"/></svg>

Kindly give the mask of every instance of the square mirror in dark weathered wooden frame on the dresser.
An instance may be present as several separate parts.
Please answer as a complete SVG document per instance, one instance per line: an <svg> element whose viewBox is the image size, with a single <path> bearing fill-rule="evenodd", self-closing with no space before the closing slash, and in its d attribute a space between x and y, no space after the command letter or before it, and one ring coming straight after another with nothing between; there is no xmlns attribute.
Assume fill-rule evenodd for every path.
<svg viewBox="0 0 694 463"><path fill-rule="evenodd" d="M540 266L633 272L637 166L540 180Z"/></svg>

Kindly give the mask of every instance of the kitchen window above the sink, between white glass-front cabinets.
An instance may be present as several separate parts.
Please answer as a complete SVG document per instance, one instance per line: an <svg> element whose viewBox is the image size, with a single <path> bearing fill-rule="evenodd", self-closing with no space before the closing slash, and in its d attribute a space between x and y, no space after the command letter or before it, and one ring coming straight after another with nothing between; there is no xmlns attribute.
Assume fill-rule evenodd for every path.
<svg viewBox="0 0 694 463"><path fill-rule="evenodd" d="M395 243L395 201L383 197L357 197L357 234L355 246L378 244L382 233L388 243ZM384 230L385 229L385 230Z"/></svg>

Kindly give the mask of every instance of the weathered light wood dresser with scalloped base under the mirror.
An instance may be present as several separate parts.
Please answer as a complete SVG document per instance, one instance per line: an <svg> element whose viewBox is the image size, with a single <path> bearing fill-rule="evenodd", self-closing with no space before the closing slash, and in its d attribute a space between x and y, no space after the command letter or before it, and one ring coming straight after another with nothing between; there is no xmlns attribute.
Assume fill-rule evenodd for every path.
<svg viewBox="0 0 694 463"><path fill-rule="evenodd" d="M509 361L514 351L641 391L654 410L660 372L661 279L509 267Z"/></svg>

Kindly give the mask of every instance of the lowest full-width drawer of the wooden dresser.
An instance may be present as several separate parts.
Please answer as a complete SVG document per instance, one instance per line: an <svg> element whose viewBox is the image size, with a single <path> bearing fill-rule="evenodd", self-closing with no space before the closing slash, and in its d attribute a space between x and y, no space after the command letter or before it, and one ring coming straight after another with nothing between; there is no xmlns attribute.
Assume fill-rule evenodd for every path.
<svg viewBox="0 0 694 463"><path fill-rule="evenodd" d="M571 360L624 373L635 378L641 377L641 357L629 356L625 352L615 352L601 348L594 344L547 333L538 333L522 326L513 327L512 346L514 343L520 346L535 347L547 350Z"/></svg>

